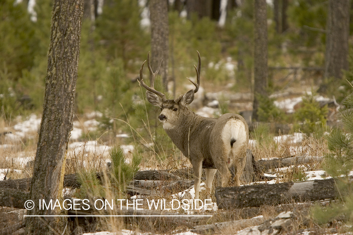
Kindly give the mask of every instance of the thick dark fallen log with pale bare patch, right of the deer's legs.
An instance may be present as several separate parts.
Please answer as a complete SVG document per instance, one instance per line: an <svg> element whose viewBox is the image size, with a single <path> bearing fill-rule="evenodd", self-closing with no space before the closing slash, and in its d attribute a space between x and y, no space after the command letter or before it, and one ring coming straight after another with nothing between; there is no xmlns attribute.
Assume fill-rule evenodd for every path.
<svg viewBox="0 0 353 235"><path fill-rule="evenodd" d="M317 201L337 196L335 179L217 187L215 191L219 209Z"/></svg>

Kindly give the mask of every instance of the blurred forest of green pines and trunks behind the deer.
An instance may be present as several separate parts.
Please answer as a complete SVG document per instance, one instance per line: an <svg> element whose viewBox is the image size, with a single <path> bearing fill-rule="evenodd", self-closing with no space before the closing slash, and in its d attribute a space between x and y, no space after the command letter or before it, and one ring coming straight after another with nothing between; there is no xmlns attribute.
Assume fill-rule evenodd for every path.
<svg viewBox="0 0 353 235"><path fill-rule="evenodd" d="M195 76L198 50L201 86L250 93L256 120L298 121L300 114L285 115L269 98L289 87L340 103L353 80L349 1L259 2L265 1L85 0L76 114L101 112L102 129L115 134L119 128L112 118L143 126L142 117L150 113L150 125L157 125L158 108L142 102L137 82L148 51L152 68L163 59L156 86L170 98L187 91L183 84ZM52 4L1 0L2 117L41 113ZM244 111L219 103L221 113ZM321 111L314 111L313 122L321 120Z"/></svg>

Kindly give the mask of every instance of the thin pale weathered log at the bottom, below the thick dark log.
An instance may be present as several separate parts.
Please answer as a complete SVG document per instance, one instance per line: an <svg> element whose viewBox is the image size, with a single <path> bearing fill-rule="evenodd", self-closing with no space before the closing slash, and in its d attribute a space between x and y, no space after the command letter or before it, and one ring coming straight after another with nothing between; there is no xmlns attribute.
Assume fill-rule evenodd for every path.
<svg viewBox="0 0 353 235"><path fill-rule="evenodd" d="M251 219L239 219L227 222L219 222L213 224L197 225L190 231L197 234L222 234L222 230L238 230L263 223L263 217L255 217Z"/></svg>

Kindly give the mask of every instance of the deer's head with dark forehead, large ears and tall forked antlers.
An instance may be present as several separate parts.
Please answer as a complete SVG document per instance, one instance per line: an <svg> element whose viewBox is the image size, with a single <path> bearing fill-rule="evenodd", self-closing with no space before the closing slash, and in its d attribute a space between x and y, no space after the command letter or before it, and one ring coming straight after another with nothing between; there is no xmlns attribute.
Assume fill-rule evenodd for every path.
<svg viewBox="0 0 353 235"><path fill-rule="evenodd" d="M148 53L147 56L147 65L148 69L150 71L150 86L147 86L144 81L143 81L143 66L146 61L143 62L141 69L140 69L140 78L139 82L142 87L144 87L146 91L146 97L147 100L154 106L158 106L161 108L161 114L159 115L159 120L163 123L163 128L164 129L170 129L174 128L175 126L178 125L178 123L181 121L180 120L180 113L185 114L188 110L186 105L189 105L193 100L194 100L194 94L198 91L199 86L200 86L200 69L201 69L201 57L200 53L197 51L198 54L198 67L195 67L196 70L196 83L191 81L189 78L187 78L192 84L195 85L195 89L191 89L190 91L186 92L185 94L180 95L177 99L172 100L166 99L166 95L163 94L162 92L156 91L154 88L154 81L156 74L158 73L162 61L160 65L158 66L156 72L152 71L151 65L150 65L150 56Z"/></svg>

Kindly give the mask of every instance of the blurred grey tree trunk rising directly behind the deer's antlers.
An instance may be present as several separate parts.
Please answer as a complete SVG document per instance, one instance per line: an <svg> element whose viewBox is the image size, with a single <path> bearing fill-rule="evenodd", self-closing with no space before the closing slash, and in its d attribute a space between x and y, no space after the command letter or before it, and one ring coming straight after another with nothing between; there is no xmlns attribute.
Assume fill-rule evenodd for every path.
<svg viewBox="0 0 353 235"><path fill-rule="evenodd" d="M156 70L163 60L159 73L163 86L168 91L169 26L167 0L150 0L151 13L151 67Z"/></svg>

